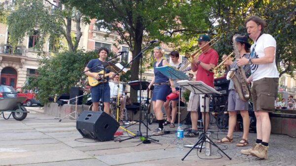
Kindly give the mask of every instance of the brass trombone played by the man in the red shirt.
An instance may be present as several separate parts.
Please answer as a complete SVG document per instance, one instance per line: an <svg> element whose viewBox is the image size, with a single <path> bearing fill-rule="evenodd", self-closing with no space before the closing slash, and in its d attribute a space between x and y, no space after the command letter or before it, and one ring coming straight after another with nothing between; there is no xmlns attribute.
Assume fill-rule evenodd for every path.
<svg viewBox="0 0 296 166"><path fill-rule="evenodd" d="M209 41L209 43L211 43L212 41L214 41L218 36L214 37L212 40ZM206 50L204 51L207 51L209 48L211 48L215 43L217 43L219 41L219 39L217 39L214 43L212 43L210 45L210 47L208 47ZM196 50L195 52L193 53L185 53L185 58L187 58L186 61L182 62L182 64L180 65L179 69L183 72L185 72L187 70L187 66L190 64L190 63L193 63L193 60L195 58L198 58L202 53L200 53L200 51L205 47L206 45L200 47L198 50ZM204 52L203 51L203 52Z"/></svg>

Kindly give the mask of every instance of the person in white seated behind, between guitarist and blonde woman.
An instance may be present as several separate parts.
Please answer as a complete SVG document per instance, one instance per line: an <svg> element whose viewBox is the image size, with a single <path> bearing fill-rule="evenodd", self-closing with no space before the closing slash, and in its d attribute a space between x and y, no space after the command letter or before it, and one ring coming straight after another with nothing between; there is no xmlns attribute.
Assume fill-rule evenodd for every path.
<svg viewBox="0 0 296 166"><path fill-rule="evenodd" d="M123 108L125 108L125 98L122 96L122 84L119 84L119 94L118 94L118 81L119 75L115 75L113 80L109 83L110 86L110 96L111 101L117 101L117 95L119 95L120 98L120 118L119 118L119 124L123 125Z"/></svg>

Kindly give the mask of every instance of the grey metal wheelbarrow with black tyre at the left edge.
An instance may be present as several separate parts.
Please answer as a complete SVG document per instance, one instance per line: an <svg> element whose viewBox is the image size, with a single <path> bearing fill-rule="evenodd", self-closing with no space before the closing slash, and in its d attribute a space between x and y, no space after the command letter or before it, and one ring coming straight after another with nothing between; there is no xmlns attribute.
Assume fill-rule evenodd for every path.
<svg viewBox="0 0 296 166"><path fill-rule="evenodd" d="M0 116L2 115L5 120L9 119L11 115L17 121L24 120L29 112L22 105L22 102L26 100L26 98L27 97L15 97L0 99ZM5 111L10 112L7 118L4 116Z"/></svg>

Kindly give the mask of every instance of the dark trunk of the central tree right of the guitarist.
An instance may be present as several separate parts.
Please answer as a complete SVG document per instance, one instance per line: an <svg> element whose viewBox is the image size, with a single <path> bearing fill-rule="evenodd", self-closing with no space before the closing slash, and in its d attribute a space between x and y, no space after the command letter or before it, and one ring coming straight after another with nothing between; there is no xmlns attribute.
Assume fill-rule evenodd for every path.
<svg viewBox="0 0 296 166"><path fill-rule="evenodd" d="M138 19L140 20L140 19ZM134 40L134 50L133 50L133 58L135 58L140 51L142 50L142 41L143 41L143 24L141 23L141 21L138 21L138 23L136 24L137 28L136 28L136 32L135 32L135 40ZM133 73L131 75L131 81L135 81L135 80L140 80L139 79L139 68L140 68L140 58L137 58L131 66L131 73ZM138 97L138 91L135 91L133 88L131 88L131 100L132 101L137 101L137 97Z"/></svg>

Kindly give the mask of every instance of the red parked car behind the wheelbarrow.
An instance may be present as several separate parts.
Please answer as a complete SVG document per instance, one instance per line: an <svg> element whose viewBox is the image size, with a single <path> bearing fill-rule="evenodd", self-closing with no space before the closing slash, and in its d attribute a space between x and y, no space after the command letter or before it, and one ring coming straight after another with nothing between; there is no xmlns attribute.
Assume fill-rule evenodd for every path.
<svg viewBox="0 0 296 166"><path fill-rule="evenodd" d="M30 92L30 90L23 89L22 87L16 87L15 90L18 97L27 97L27 99L23 102L27 106L40 105L40 101L36 99L34 91L31 90Z"/></svg>

